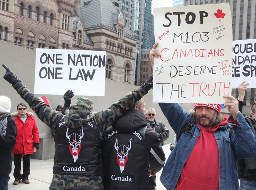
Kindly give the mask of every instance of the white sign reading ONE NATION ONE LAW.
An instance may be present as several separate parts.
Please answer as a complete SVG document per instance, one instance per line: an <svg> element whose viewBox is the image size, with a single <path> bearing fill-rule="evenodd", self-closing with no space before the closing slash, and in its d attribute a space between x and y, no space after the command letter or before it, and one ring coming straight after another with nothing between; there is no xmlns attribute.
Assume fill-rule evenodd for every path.
<svg viewBox="0 0 256 190"><path fill-rule="evenodd" d="M36 49L35 94L105 95L105 51Z"/></svg>

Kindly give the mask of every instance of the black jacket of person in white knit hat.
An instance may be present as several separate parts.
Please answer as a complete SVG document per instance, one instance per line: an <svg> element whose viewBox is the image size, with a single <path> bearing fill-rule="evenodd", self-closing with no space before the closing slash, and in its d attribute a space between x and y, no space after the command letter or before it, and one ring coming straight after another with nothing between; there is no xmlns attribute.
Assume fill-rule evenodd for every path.
<svg viewBox="0 0 256 190"><path fill-rule="evenodd" d="M0 125L2 131L2 126ZM16 142L17 128L11 115L7 116L6 134L0 134L0 174L9 174L12 169L12 150Z"/></svg>

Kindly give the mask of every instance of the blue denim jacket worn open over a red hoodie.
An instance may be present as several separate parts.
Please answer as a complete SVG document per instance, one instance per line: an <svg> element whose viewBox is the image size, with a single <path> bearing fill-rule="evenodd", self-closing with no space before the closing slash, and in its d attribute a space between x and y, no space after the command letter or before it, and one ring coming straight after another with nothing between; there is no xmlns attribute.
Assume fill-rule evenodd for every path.
<svg viewBox="0 0 256 190"><path fill-rule="evenodd" d="M176 134L179 134L183 125L191 120L192 115L177 103L159 103L159 106ZM236 161L256 155L256 139L244 116L240 112L236 115L236 121L240 126L230 123L231 117L227 121L227 125L233 126L231 140L227 129L214 132L219 147L219 190L239 190ZM184 163L190 156L200 132L200 127L194 122L192 129L183 132L180 139L177 139L177 145L166 161L160 177L166 189L175 189Z"/></svg>

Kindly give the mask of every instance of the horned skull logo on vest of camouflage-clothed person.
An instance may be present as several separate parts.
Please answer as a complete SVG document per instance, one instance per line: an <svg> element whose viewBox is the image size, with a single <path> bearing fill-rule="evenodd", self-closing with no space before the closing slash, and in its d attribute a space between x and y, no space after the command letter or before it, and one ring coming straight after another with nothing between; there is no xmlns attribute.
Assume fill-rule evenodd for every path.
<svg viewBox="0 0 256 190"><path fill-rule="evenodd" d="M76 133L69 134L69 128L68 127L66 128L67 128L66 138L69 140L69 151L73 156L74 162L76 162L79 156L79 152L81 150L81 139L84 136L84 131L82 130L82 127L81 127L80 135Z"/></svg>

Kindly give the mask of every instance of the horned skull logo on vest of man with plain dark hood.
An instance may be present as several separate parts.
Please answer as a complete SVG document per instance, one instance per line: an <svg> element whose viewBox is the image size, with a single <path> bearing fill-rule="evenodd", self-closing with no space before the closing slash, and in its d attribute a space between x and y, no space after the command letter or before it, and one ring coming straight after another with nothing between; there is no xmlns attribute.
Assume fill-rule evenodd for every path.
<svg viewBox="0 0 256 190"><path fill-rule="evenodd" d="M128 152L132 148L132 139L129 140L129 145L125 146L123 144L118 146L118 140L116 138L116 143L114 144L114 148L117 151L117 163L120 168L120 172L123 173L126 162L128 160Z"/></svg>

